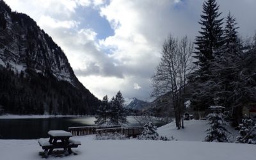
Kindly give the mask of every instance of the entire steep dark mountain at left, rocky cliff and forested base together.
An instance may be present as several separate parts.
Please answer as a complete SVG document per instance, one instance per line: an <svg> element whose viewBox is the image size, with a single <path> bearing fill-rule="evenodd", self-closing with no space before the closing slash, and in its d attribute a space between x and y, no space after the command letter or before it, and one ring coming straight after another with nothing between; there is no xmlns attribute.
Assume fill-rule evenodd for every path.
<svg viewBox="0 0 256 160"><path fill-rule="evenodd" d="M95 113L99 104L51 36L3 0L0 75L0 105L8 113L86 115Z"/></svg>

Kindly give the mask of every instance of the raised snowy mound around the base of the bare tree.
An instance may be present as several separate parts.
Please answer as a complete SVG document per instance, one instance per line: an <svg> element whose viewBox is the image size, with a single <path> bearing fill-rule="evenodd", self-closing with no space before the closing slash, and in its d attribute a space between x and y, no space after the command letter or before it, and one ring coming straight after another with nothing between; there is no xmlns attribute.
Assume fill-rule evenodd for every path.
<svg viewBox="0 0 256 160"><path fill-rule="evenodd" d="M157 128L157 132L162 136L171 137L181 141L204 141L206 136L205 130L209 128L207 120L186 120L184 129L177 130L175 122L166 124ZM229 135L231 140L238 134L232 127L227 127L232 134Z"/></svg>

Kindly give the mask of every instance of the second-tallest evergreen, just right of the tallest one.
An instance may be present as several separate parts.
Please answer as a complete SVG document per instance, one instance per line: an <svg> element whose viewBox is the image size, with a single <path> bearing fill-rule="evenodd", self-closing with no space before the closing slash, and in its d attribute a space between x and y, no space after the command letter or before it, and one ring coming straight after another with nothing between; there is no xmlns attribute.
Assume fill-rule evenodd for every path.
<svg viewBox="0 0 256 160"><path fill-rule="evenodd" d="M229 12L224 30L224 45L209 67L212 83L207 86L212 88L213 97L221 97L220 104L225 108L230 108L234 103L234 84L237 84L241 72L241 45L236 24L236 19Z"/></svg>

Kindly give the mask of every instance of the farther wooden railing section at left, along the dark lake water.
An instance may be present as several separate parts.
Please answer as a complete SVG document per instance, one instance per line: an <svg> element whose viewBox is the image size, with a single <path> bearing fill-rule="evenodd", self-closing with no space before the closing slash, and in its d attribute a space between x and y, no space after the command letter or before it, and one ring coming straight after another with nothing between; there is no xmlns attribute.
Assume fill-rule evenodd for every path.
<svg viewBox="0 0 256 160"><path fill-rule="evenodd" d="M85 127L68 127L73 136L96 134L97 129L121 128L121 125L91 125Z"/></svg>

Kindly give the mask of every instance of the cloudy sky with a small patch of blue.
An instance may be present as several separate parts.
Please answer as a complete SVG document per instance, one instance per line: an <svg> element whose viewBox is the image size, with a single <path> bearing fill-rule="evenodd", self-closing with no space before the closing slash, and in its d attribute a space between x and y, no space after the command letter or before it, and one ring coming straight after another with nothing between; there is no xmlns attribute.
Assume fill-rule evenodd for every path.
<svg viewBox="0 0 256 160"><path fill-rule="evenodd" d="M150 100L150 77L168 35L200 31L203 0L5 0L28 14L65 52L77 78L96 97ZM230 11L240 36L256 31L255 0L217 0L221 17Z"/></svg>

